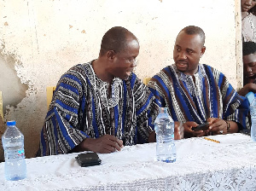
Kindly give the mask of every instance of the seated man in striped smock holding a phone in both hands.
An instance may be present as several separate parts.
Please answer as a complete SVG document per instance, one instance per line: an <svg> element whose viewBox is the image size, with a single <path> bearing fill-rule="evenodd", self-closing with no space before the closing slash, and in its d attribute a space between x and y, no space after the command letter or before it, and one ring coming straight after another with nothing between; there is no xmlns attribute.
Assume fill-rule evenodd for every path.
<svg viewBox="0 0 256 191"><path fill-rule="evenodd" d="M175 64L162 69L148 83L160 107L168 107L172 119L183 123L185 137L247 128L247 99L236 93L223 73L199 63L206 50L204 43L200 27L183 28L174 45ZM192 130L206 122L207 130Z"/></svg>

